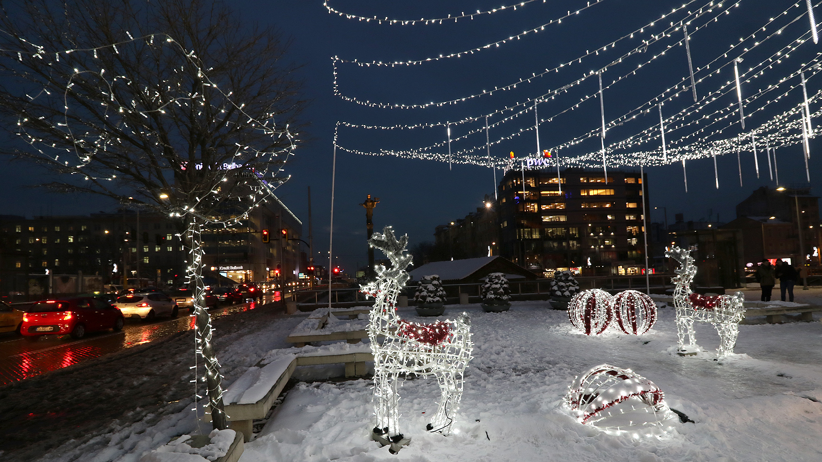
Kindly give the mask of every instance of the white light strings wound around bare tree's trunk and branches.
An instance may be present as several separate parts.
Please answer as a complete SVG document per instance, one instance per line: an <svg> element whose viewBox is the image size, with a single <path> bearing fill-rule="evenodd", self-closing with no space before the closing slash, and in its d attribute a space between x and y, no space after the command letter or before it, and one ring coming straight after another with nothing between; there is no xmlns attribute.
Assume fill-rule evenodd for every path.
<svg viewBox="0 0 822 462"><path fill-rule="evenodd" d="M44 85L42 90L28 96L30 107L21 108L16 133L34 148L31 152L39 155L40 162L55 166L62 173L79 175L83 182L71 185L76 191L94 192L126 201L118 189L122 187L122 182L116 180L130 178L130 175L134 178L135 173L130 169L136 163L138 168L148 170L150 173L147 175L155 181L149 182L149 187L145 182L132 180L129 186L134 183L138 186L132 196L127 196L127 206L178 217L185 222L186 231L182 237L190 258L187 261L187 282L194 286L192 316L195 317L196 355L201 355L205 363L205 377L202 380L205 381L209 399L211 422L215 428L223 429L228 424L223 410L222 376L211 342L213 328L210 315L205 311L203 227L206 224L238 224L247 219L254 208L265 203L275 187L288 179L279 176L279 173L292 155L296 139L287 125L280 126L275 122L280 115L278 109L274 109L275 105L252 113L254 109L247 107L247 102L232 98L237 89L232 90L229 85L226 90L220 87L201 67L201 58L173 37L151 34L135 38L129 32L125 35L128 39L103 46L50 51L15 36L14 45L20 49L0 50L5 58L16 58L22 67L30 66L29 60L48 62L53 70L47 80L38 82ZM118 67L118 63L137 53L142 56L155 50L179 60L183 69L175 72L179 79L190 81L192 85L186 88L193 86L193 90L181 90L183 85L167 85L167 89L163 85L154 88L145 86L145 94L141 94L145 99L132 99L130 89L136 88L131 86L133 75L128 73L129 69L124 70L122 64ZM169 83L169 76L160 71L151 75L153 71L155 69L149 69L141 77L159 79L151 85ZM63 78L66 80L63 81ZM35 80L30 80L30 83ZM103 117L105 122L95 125L94 120L86 120L85 116L89 114L82 111L88 108L89 101L99 99L101 89L105 96L104 103L101 104L102 108L97 109L101 112L95 114L100 114L99 117ZM56 118L58 122L49 122L48 118L39 118L32 115L34 112L29 112L50 111L48 98L55 94L62 97L62 118ZM41 99L44 102L40 103ZM78 101L81 103L77 104ZM236 142L228 149L215 150L212 153L215 157L208 161L203 157L194 159L191 155L178 155L178 146L173 146L173 140L162 143L154 141L157 127L146 125L149 122L142 120L158 125L173 124L166 121L173 120L180 109L190 110L191 117L195 119L204 113L211 113L210 118L204 118L201 122L215 124L218 126L215 130L231 127L236 130L238 140L241 139L239 135L244 133L247 140L252 141ZM59 122L61 119L62 122ZM50 135L44 135L44 132ZM257 140L249 136L250 133L262 135L262 138ZM51 140L59 141L49 142L49 136ZM162 152L158 153L155 146L160 146ZM56 154L49 152L52 150ZM215 159L219 162L215 163ZM169 171L173 173L173 178ZM192 176L198 181L187 180ZM183 183L194 186L186 189ZM229 209L230 213L220 211ZM195 374L196 364L195 360ZM200 377L196 376L195 383L199 381ZM195 395L196 398L200 397L196 390Z"/></svg>

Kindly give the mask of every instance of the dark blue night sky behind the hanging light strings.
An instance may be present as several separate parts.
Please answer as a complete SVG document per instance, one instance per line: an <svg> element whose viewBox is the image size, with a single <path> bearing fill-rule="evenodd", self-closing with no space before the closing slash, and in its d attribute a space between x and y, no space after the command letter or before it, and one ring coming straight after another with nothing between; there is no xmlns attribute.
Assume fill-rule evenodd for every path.
<svg viewBox="0 0 822 462"><path fill-rule="evenodd" d="M303 222L303 235L307 236L308 207L307 187L312 189L312 212L315 255L317 263L327 264L328 232L330 219L330 183L332 137L335 122L345 121L371 125L413 124L423 122L446 122L468 117L483 117L496 110L546 94L548 91L576 81L585 73L603 67L615 57L621 56L628 49L641 44L641 38L661 32L670 21L678 21L684 13L679 12L660 20L660 16L681 7L687 0L671 2L667 0L600 0L591 7L570 16L561 24L546 25L537 34L524 35L499 47L483 49L481 52L468 54L460 58L424 62L417 66L401 67L358 67L353 64L340 64L338 67L339 91L349 97L361 100L381 101L391 104L423 104L431 101L462 98L493 90L495 86L504 86L521 78L553 68L561 62L584 54L586 50L601 49L633 30L655 21L652 27L636 34L635 39L626 39L606 53L599 53L584 58L581 63L562 67L560 72L550 72L547 76L535 78L531 83L521 83L513 90L497 92L491 96L471 99L464 103L427 109L376 109L354 104L340 99L332 92L331 57L358 59L359 61L406 61L434 58L440 54L474 49L484 44L506 39L520 34L524 30L537 28L549 21L565 16L568 10L575 11L586 6L587 1L549 0L531 2L524 7L506 8L491 15L478 16L473 20L463 19L457 22L444 21L436 25L386 25L375 21L356 21L336 14L329 14L321 0L302 0L299 2L245 0L230 2L243 21L249 25L273 25L284 35L293 39L289 56L293 62L303 64L300 76L305 80L304 95L312 103L304 113L310 122L304 144L287 167L293 175L291 180L276 191L284 203L298 215ZM419 19L421 17L443 17L461 12L485 11L503 4L477 1L430 1L414 2L376 2L376 1L331 1L330 6L339 11L362 16L381 16L396 19ZM695 12L709 1L690 2L686 11ZM738 6L737 6L738 5ZM757 28L762 27L769 18L778 16L788 10L787 16L778 21L779 26L786 25L782 35L769 39L746 55L740 64L740 71L746 70L765 57L776 53L792 39L809 29L805 2L792 7L790 2L773 0L741 0L739 2L714 2L716 12L727 9L728 14L711 14L718 16L704 29L691 31L691 53L695 67L702 67L727 51L731 44L739 42ZM730 8L727 8L730 7ZM804 15L804 16L803 16ZM801 17L800 17L801 16ZM817 7L817 18L822 17L822 6ZM709 16L704 16L709 17ZM791 25L788 22L799 17ZM787 19L786 19L787 18ZM695 20L696 23L703 20ZM751 43L764 39L773 33L776 27L758 32ZM660 40L649 46L645 53L637 53L626 58L603 74L605 85L610 84L617 76L630 73L630 69L644 62L652 55L662 52L667 44L675 44L681 39L681 31L672 32L671 37ZM777 82L780 77L796 71L802 62L808 62L816 53L822 52L822 44L813 44L810 40L802 44L797 52L790 53L789 58L765 69L763 76L744 84L743 97L752 95L755 90L764 89ZM736 53L736 52L735 52ZM730 56L730 55L729 55ZM720 59L727 62L730 58ZM713 67L711 69L713 71ZM711 72L711 71L708 71ZM703 72L706 75L708 72ZM644 65L635 75L605 90L604 105L607 121L621 116L649 99L653 99L668 87L675 85L688 76L686 50L683 46L668 49L662 57ZM700 75L697 76L700 78ZM698 94L705 95L717 90L720 85L733 81L732 67L724 67L719 74L712 74L704 82L697 84ZM798 84L793 78L790 85ZM787 84L786 84L787 85ZM822 75L810 77L808 91L810 95L822 87ZM787 90L778 90L774 96ZM589 78L580 85L571 87L567 93L558 95L539 105L540 118L554 116L576 103L581 98L596 93L598 83L595 77ZM772 99L772 98L764 98ZM721 95L707 106L703 113L711 114L722 108L736 109L737 95L730 91ZM793 90L778 103L765 107L746 118L746 128L758 127L762 122L801 102L801 90ZM693 104L690 89L663 106L666 117ZM755 102L750 111L762 104ZM746 107L746 109L748 109ZM811 104L811 112L819 110L819 105ZM717 127L727 127L723 133L710 137L710 140L737 136L741 132L739 115L726 109L720 113L724 118ZM506 115L510 115L507 113ZM501 120L502 115L492 115L489 122ZM690 118L689 120L692 120ZM732 122L736 123L732 123ZM635 135L649 127L657 126L659 115L653 109L643 113L621 127L609 129L607 144L620 141L627 136ZM668 142L676 142L682 136L688 136L695 130L707 125L710 120L701 121L689 127L683 127L667 133ZM533 127L533 111L524 113L519 118L506 122L500 127L492 127L491 141L509 136L520 129ZM573 111L557 115L552 122L543 122L539 127L540 146L549 149L559 146L575 136L596 130L600 127L600 109L598 99L587 99ZM814 120L816 126L818 122ZM483 126L483 122L473 122L459 127L452 127L452 136L461 136L469 129ZM730 126L730 127L728 127ZM699 136L697 136L698 138ZM343 127L339 131L339 145L353 150L379 152L387 150L408 150L430 146L446 141L445 127L416 129L413 131L380 131ZM478 155L485 155L485 134L480 132L469 139L452 143L452 150L464 150L473 146L482 147ZM587 154L599 149L600 141L593 137L578 145L560 151L561 156ZM818 141L811 141L810 176L813 192L820 192L820 172L822 162L815 150L820 146ZM758 146L760 149L763 146ZM653 139L632 150L659 150L658 132ZM508 141L492 146L492 157L504 159L513 150L518 157L536 153L536 140L533 130L523 132ZM447 152L442 147L436 152ZM787 146L777 151L778 175L780 184L791 186L805 183L805 165L802 160L801 145ZM690 160L688 165L688 187L686 194L683 186L681 164L661 167L649 167L649 194L652 210L652 221L663 221L663 207L667 208L669 223L674 214L682 213L685 219L711 219L730 221L735 218L734 207L757 187L769 185L774 187L775 180L769 179L767 160L762 152L759 154L760 178L756 178L753 155L750 150L741 153L743 186L739 184L736 155L718 157L719 189L714 187L713 160ZM7 162L7 161L6 161ZM6 163L4 162L4 163ZM626 169L638 169L627 167ZM94 196L56 195L31 189L29 186L42 182L44 173L28 164L12 163L7 166L7 174L0 184L3 201L0 214L5 215L72 215L88 214L98 210L112 210L114 205ZM497 179L501 178L497 170ZM377 196L381 202L374 213L375 229L386 224L393 225L399 233L409 233L410 244L432 240L437 224L446 224L483 205L483 196L493 195L494 182L492 170L477 165L454 164L449 169L447 163L421 159L399 159L394 156L355 155L343 150L337 151L337 175L335 195L335 255L346 270L353 270L357 264L366 261L365 210L359 206L367 194Z"/></svg>

